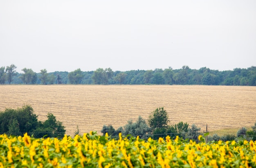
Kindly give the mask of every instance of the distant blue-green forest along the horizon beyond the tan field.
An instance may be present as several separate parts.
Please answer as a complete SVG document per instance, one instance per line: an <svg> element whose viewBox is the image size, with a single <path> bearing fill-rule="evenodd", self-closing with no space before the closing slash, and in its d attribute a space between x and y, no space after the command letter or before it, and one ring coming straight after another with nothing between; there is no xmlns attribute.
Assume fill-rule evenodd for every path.
<svg viewBox="0 0 256 168"><path fill-rule="evenodd" d="M235 68L234 70L199 70L182 66L173 70L171 67L155 70L112 71L111 68L98 68L83 72L47 72L46 69L36 73L23 68L23 73L16 72L16 66L0 68L0 84L97 84L97 85L243 85L256 86L256 66Z"/></svg>

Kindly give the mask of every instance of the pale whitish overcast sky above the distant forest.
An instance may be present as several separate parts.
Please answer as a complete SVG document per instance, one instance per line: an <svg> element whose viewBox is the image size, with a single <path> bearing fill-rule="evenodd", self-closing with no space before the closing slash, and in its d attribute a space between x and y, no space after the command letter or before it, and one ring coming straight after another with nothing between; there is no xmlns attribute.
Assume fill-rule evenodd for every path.
<svg viewBox="0 0 256 168"><path fill-rule="evenodd" d="M1 0L0 67L17 72L256 66L255 0Z"/></svg>

